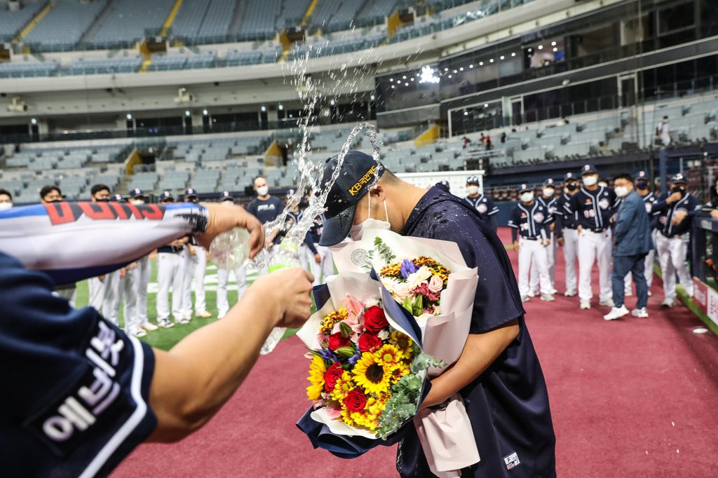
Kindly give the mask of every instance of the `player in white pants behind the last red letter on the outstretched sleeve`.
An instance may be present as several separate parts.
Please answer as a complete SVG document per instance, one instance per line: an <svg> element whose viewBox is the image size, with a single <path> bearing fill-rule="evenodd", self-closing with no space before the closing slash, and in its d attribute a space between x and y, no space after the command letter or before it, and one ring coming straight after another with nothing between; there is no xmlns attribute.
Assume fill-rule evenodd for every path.
<svg viewBox="0 0 718 478"><path fill-rule="evenodd" d="M174 197L169 191L160 195L162 205L172 204ZM172 287L172 317L177 324L189 324L182 313L182 281L185 278L185 250L187 238L175 239L157 248L157 325L172 327L169 322L169 288Z"/></svg>

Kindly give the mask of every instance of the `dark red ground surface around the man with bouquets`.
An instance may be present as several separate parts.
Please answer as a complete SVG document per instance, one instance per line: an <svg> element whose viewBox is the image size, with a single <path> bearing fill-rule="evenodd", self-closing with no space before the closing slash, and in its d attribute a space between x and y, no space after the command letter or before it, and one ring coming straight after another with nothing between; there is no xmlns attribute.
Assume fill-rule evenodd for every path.
<svg viewBox="0 0 718 478"><path fill-rule="evenodd" d="M509 242L508 231L500 236ZM651 291L648 319L605 322L607 308L579 310L576 297L525 304L559 477L718 477L718 338L692 333L701 322L683 305L661 309L660 279ZM113 477L396 477L393 448L342 460L294 426L308 406L302 355L298 339L286 340L205 428L179 444L139 446Z"/></svg>

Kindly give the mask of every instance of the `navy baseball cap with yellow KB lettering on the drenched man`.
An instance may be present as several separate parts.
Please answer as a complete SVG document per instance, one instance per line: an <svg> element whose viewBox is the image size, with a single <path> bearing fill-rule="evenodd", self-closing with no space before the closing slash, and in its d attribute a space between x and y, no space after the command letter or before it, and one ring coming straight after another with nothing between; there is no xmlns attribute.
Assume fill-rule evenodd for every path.
<svg viewBox="0 0 718 478"><path fill-rule="evenodd" d="M322 184L327 184L339 162L338 156L327 159ZM327 196L324 230L320 245L336 245L345 240L354 224L359 200L369 191L377 175L381 177L384 167L374 158L361 151L351 150L342 161L341 172Z"/></svg>

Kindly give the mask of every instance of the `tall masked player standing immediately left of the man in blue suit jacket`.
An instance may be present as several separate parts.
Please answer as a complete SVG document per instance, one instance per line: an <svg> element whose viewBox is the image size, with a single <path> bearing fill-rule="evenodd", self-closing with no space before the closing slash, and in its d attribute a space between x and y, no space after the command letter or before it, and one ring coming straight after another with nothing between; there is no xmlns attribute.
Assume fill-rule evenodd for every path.
<svg viewBox="0 0 718 478"><path fill-rule="evenodd" d="M577 214L579 223L580 308L591 308L591 271L594 262L598 263L599 305L612 307L610 221L617 207L617 197L612 189L598 185L598 172L592 164L586 164L581 169L581 177L584 185L571 197L567 208L569 214Z"/></svg>

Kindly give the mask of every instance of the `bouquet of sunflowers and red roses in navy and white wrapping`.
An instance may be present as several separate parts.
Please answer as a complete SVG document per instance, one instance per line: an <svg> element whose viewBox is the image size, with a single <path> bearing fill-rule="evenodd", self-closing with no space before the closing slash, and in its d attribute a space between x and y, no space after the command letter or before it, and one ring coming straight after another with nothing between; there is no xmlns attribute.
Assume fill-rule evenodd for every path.
<svg viewBox="0 0 718 478"><path fill-rule="evenodd" d="M426 371L443 364L422 352L416 322L368 274L332 276L314 297L320 309L297 332L313 405L297 424L314 446L358 456L416 416Z"/></svg>

